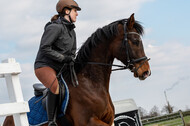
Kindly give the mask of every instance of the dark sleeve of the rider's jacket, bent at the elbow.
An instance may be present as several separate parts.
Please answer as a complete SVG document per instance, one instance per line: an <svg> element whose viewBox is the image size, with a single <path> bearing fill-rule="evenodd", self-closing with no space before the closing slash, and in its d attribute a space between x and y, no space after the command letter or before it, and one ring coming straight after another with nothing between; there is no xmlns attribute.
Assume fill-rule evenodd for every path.
<svg viewBox="0 0 190 126"><path fill-rule="evenodd" d="M42 35L41 44L40 44L40 50L42 53L53 60L56 60L58 62L62 62L64 59L64 56L53 50L52 45L59 37L59 34L61 33L61 28L56 24L51 24L45 28L45 31Z"/></svg>

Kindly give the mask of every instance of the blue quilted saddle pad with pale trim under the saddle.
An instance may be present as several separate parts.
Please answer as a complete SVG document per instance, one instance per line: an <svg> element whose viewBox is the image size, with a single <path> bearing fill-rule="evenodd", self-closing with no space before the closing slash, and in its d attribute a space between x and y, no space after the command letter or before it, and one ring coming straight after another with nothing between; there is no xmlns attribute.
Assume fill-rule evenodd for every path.
<svg viewBox="0 0 190 126"><path fill-rule="evenodd" d="M58 115L58 117L64 116L67 109L68 102L69 102L69 89L62 76L61 76L61 80L65 86L65 97L61 105L62 114ZM42 96L38 96L38 97L34 96L28 102L29 107L30 107L30 112L27 113L27 116L28 116L28 121L29 121L30 126L40 126L48 122L47 112L42 106L42 100L35 103L40 98L42 98Z"/></svg>

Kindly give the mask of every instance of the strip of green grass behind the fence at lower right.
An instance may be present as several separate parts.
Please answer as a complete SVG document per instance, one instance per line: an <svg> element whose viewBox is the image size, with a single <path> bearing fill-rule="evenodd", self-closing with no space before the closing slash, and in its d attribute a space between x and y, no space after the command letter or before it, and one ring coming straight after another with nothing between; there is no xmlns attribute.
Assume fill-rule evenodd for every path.
<svg viewBox="0 0 190 126"><path fill-rule="evenodd" d="M190 126L190 116L185 116L184 117L185 123ZM144 126L183 126L181 118L173 119L173 120L168 120L168 121L163 121L159 123L153 123L153 124L148 124Z"/></svg>

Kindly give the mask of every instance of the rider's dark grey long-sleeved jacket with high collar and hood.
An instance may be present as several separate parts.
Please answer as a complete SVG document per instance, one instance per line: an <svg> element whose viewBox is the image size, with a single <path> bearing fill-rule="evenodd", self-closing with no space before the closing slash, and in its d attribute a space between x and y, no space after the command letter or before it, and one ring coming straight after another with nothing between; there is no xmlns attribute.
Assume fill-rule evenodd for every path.
<svg viewBox="0 0 190 126"><path fill-rule="evenodd" d="M49 66L59 72L63 66L63 56L73 58L76 53L75 25L63 17L45 26L34 68Z"/></svg>

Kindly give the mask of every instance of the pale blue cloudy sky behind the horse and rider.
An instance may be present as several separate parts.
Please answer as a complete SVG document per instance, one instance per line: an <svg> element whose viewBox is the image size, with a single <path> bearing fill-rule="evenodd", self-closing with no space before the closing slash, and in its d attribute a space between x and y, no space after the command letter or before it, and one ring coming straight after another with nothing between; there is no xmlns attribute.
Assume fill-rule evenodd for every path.
<svg viewBox="0 0 190 126"><path fill-rule="evenodd" d="M187 0L76 0L82 11L77 17L78 49L97 28L115 20L135 19L145 28L142 36L151 76L144 81L128 71L111 74L113 101L134 99L149 111L166 105L164 91L175 110L190 108L190 1ZM0 61L15 58L20 63L24 99L33 96L32 85L39 82L33 64L45 24L56 14L57 0L0 1ZM119 61L114 63L121 64ZM0 79L0 103L9 102L6 84Z"/></svg>

